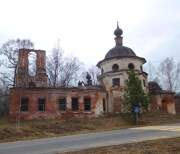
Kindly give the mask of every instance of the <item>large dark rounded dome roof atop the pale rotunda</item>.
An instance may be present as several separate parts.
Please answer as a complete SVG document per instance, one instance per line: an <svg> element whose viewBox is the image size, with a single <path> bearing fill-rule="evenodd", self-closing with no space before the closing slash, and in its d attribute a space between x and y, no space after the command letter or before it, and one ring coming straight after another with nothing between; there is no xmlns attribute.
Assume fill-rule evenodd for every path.
<svg viewBox="0 0 180 154"><path fill-rule="evenodd" d="M110 49L106 54L105 59L116 58L116 57L135 57L136 54L131 48L116 45L114 48Z"/></svg>

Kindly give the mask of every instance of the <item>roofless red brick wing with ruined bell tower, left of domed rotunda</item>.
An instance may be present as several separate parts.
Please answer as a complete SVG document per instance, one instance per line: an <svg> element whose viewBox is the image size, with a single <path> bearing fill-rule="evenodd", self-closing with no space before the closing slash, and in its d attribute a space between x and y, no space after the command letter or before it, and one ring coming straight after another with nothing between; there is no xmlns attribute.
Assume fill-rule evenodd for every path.
<svg viewBox="0 0 180 154"><path fill-rule="evenodd" d="M36 73L28 70L29 53L36 53ZM74 88L48 87L44 50L21 49L16 73L16 85L11 88L11 119L52 119L64 116L95 117L107 110L106 92L92 86Z"/></svg>

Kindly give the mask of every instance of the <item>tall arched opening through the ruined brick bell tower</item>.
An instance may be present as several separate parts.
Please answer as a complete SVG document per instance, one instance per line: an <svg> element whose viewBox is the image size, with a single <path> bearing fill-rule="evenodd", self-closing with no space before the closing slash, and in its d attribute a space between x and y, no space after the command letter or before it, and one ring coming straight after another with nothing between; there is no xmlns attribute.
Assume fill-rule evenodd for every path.
<svg viewBox="0 0 180 154"><path fill-rule="evenodd" d="M36 75L36 53L29 52L28 54L28 73L30 76Z"/></svg>

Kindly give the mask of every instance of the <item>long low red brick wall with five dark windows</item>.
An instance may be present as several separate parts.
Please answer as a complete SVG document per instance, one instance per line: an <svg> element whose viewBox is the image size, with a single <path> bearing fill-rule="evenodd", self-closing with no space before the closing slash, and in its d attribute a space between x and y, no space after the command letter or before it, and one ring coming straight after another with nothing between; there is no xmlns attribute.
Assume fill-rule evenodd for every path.
<svg viewBox="0 0 180 154"><path fill-rule="evenodd" d="M22 97L28 98L28 111L21 111L21 99ZM72 111L72 97L78 99L79 109ZM39 111L38 99L45 99L45 110ZM66 99L66 110L60 111L59 99ZM91 109L89 111L84 110L84 98L89 98L91 103ZM12 88L10 92L10 119L17 119L20 116L21 119L53 119L60 118L62 116L74 115L74 116L98 116L105 112L106 106L106 92L101 88L89 87L89 88Z"/></svg>

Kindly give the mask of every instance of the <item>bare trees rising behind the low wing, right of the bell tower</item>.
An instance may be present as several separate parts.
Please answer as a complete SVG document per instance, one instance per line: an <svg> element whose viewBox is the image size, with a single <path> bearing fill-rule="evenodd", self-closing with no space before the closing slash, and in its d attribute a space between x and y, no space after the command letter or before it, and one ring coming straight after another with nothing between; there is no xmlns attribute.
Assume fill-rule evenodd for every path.
<svg viewBox="0 0 180 154"><path fill-rule="evenodd" d="M62 49L54 48L47 57L47 74L52 87L69 87L78 80L81 63L77 57L63 57Z"/></svg>

